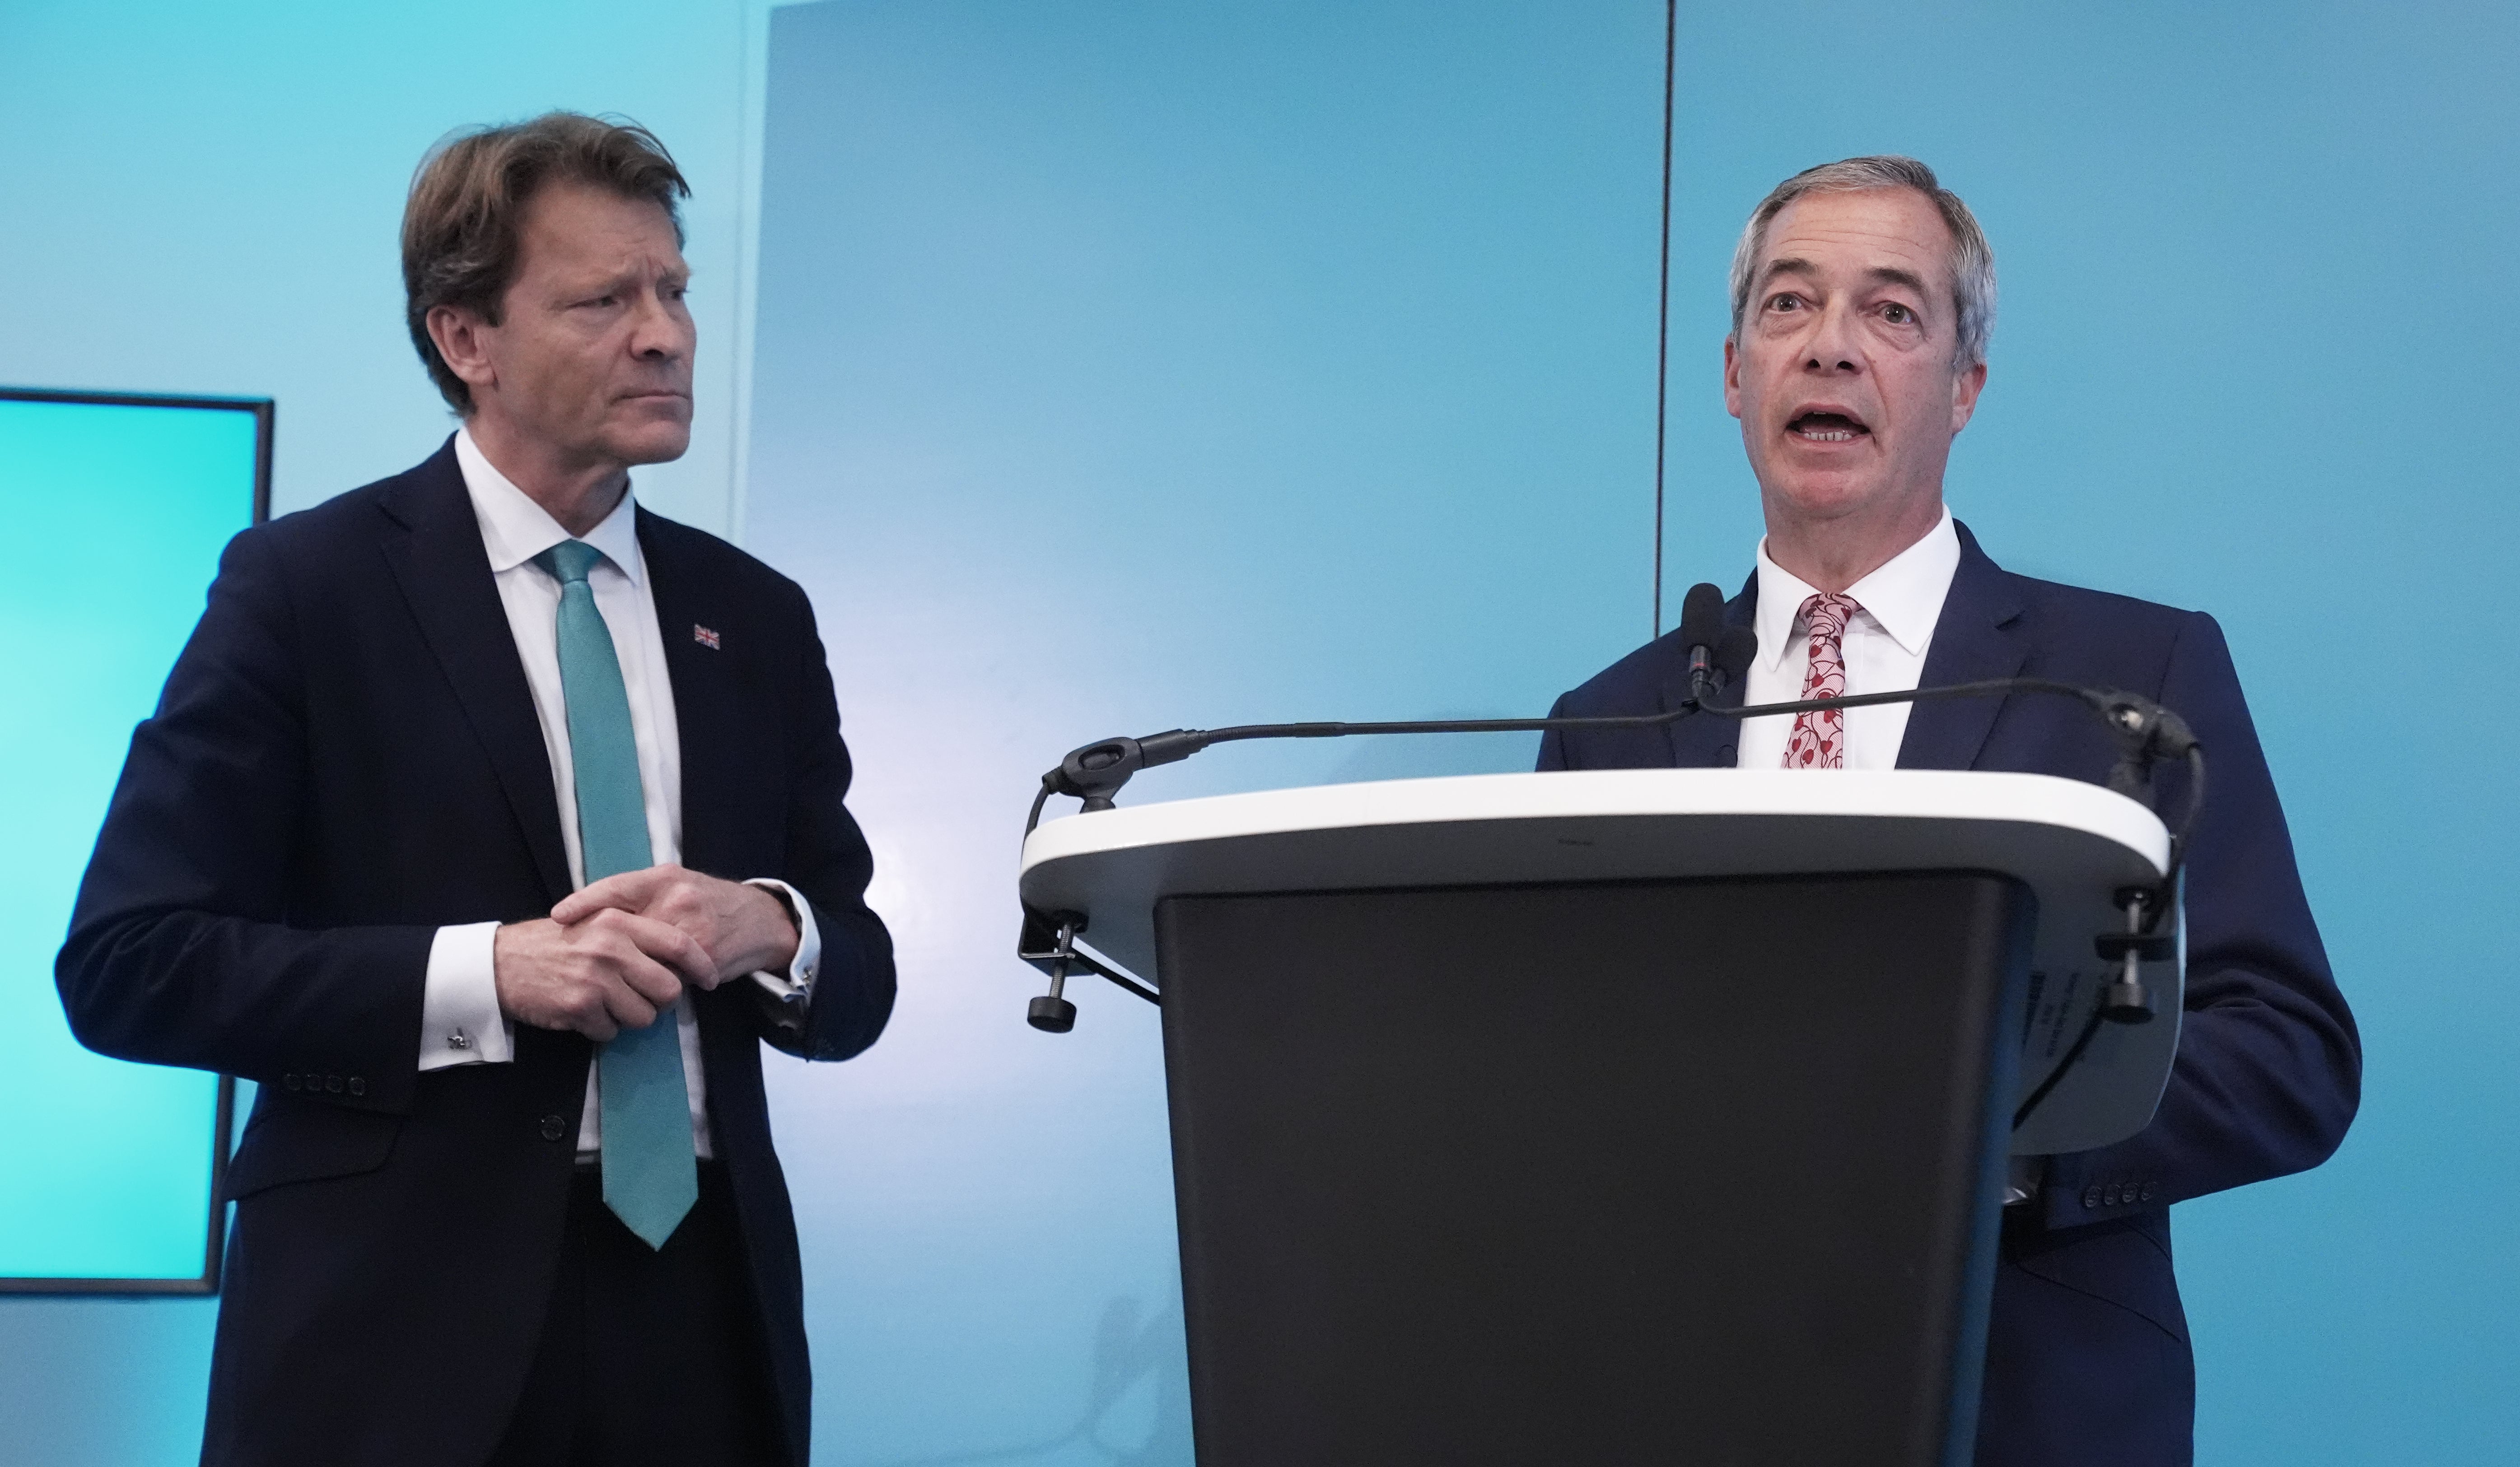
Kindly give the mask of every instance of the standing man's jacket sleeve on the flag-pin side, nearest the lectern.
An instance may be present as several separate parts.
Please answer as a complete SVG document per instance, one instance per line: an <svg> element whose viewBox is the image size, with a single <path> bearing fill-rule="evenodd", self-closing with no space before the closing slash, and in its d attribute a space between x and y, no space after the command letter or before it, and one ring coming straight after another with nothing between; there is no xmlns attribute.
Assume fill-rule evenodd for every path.
<svg viewBox="0 0 2520 1467"><path fill-rule="evenodd" d="M832 668L814 633L814 607L804 590L789 587L804 628L804 655L789 683L789 882L814 902L822 930L822 970L814 996L796 1006L761 993L771 1046L804 1059L849 1059L862 1054L892 1018L892 935L867 907L867 880L874 857L844 799L849 794L849 746L839 739L839 701L832 693Z"/></svg>

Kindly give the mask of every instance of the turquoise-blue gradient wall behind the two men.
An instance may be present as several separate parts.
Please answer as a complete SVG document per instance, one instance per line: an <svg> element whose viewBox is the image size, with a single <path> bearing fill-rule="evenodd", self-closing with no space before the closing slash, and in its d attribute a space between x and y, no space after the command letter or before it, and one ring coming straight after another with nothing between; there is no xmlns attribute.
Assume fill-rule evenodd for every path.
<svg viewBox="0 0 2520 1467"><path fill-rule="evenodd" d="M1154 1013L1081 991L1074 1036L1023 1028L1023 804L1094 736L1537 711L1646 638L1661 5L827 0L746 13L751 101L693 40L733 35L728 8L655 0L648 43L554 8L537 38L575 25L580 48L438 66L446 103L401 48L471 10L197 15L267 55L186 73L166 35L214 23L156 13L58 20L45 55L108 91L126 50L189 78L159 111L111 93L144 131L229 88L219 66L320 66L323 98L378 88L401 131L285 86L244 121L212 106L287 179L229 166L234 217L287 224L217 234L219 270L144 300L129 277L181 257L166 237L91 262L58 207L0 232L48 302L0 302L0 378L136 381L166 333L204 373L320 368L340 386L307 381L305 431L333 449L282 504L438 431L391 277L340 285L386 260L433 129L489 96L645 116L675 48L696 58L648 121L723 139L703 197L761 169L759 310L726 328L756 333L748 466L723 504L814 592L902 938L885 1044L771 1066L816 1462L1187 1464ZM1673 597L1736 585L1759 534L1716 391L1741 217L1799 166L1913 151L2003 272L1953 504L2016 570L2230 630L2369 1099L2328 1167L2175 1212L2208 1464L2492 1464L2520 1437L2520 970L2497 920L2520 870L2515 58L2520 18L2475 0L1681 5ZM612 81L638 96L592 101ZM38 164L88 149L55 121L83 98L40 96L10 113ZM156 199L224 207L141 151L78 156L40 169L45 199L139 224ZM310 272L307 310L197 285L265 257ZM1527 756L1222 749L1129 794ZM0 1459L186 1459L204 1369L207 1308L0 1301Z"/></svg>

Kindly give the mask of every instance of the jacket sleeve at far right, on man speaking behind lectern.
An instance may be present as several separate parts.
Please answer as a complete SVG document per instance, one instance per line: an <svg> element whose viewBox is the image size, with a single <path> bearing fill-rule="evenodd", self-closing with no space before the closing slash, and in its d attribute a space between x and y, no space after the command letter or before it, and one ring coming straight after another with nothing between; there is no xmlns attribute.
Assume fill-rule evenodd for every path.
<svg viewBox="0 0 2520 1467"><path fill-rule="evenodd" d="M2361 1099L2361 1041L2311 920L2293 837L2240 698L2223 628L2192 615L2157 698L2205 746L2205 807L2187 849L2187 1003L2152 1124L2054 1157L2051 1228L2099 1222L2323 1162ZM2185 771L2162 809L2185 807Z"/></svg>

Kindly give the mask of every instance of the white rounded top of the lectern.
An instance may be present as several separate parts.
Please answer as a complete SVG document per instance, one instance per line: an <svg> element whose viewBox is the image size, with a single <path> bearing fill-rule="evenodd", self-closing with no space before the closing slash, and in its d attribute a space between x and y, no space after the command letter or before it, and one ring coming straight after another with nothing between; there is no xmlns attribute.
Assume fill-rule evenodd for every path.
<svg viewBox="0 0 2520 1467"><path fill-rule="evenodd" d="M1084 943L1159 978L1169 895L1477 887L1814 872L1991 870L2039 900L2024 1091L2107 981L2092 943L2114 892L2152 885L2170 832L2076 779L1981 771L1605 769L1320 784L1076 814L1023 842L1028 907L1079 912ZM2152 1117L2180 1028L2177 958L2145 963L2157 1018L2104 1031L2013 1134L2074 1152Z"/></svg>

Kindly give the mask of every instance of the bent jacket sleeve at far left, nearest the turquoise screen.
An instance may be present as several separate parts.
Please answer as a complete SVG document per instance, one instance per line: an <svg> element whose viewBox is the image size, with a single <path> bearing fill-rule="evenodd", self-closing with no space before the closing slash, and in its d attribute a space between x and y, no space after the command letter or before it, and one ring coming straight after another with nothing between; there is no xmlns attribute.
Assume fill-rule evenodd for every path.
<svg viewBox="0 0 2520 1467"><path fill-rule="evenodd" d="M290 923L305 681L267 534L227 544L53 965L81 1044L408 1112L433 928Z"/></svg>

